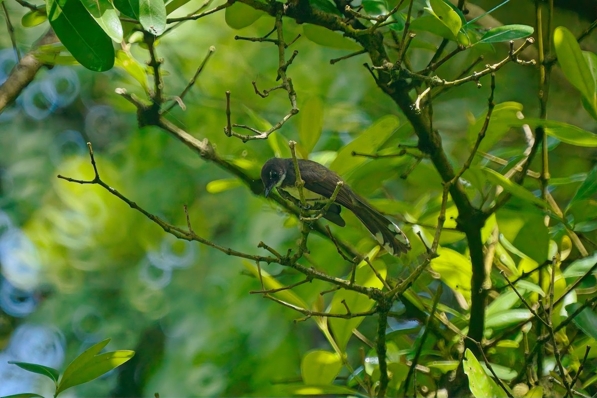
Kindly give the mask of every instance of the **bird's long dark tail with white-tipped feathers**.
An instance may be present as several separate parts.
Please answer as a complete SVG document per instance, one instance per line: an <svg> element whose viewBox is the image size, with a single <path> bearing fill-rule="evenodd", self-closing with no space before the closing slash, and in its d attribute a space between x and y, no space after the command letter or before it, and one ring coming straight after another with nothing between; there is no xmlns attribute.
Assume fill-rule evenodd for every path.
<svg viewBox="0 0 597 398"><path fill-rule="evenodd" d="M377 242L390 254L400 257L402 253L410 250L410 242L408 242L408 238L404 235L404 232L376 209L362 203L362 206L359 206L359 210L354 213L375 237Z"/></svg>

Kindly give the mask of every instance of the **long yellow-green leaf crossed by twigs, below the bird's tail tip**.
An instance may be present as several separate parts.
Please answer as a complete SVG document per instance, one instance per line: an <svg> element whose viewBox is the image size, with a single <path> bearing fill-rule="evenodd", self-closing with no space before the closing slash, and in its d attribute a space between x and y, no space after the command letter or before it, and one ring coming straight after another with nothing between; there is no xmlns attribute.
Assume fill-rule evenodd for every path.
<svg viewBox="0 0 597 398"><path fill-rule="evenodd" d="M370 263L373 264L378 273L380 273L381 277L384 278L386 277L387 273L385 264L382 261L374 261L379 250L380 246L376 246L367 254L367 257L370 258ZM377 279L373 270L371 270L371 267L369 267L365 261L361 261L361 263L359 263L356 267L355 283L367 288L381 289L383 287L381 281ZM334 297L332 298L330 306L330 312L336 314L346 313L346 307L342 303L343 300L346 302L346 306L352 313L368 311L373 308L373 305L375 304L375 301L371 300L365 295L341 289L334 293ZM362 317L355 317L351 319L333 317L328 320L331 332L334 335L340 351L344 352L344 350L346 350L346 345L352 336L352 330L358 328L363 320L364 318Z"/></svg>

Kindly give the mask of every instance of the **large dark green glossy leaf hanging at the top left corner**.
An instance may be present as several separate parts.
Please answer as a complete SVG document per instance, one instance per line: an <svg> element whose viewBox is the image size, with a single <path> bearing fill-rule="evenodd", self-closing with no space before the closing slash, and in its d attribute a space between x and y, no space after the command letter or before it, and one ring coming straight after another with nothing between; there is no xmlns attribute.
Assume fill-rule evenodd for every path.
<svg viewBox="0 0 597 398"><path fill-rule="evenodd" d="M112 40L79 0L47 0L46 7L56 36L82 66L96 72L112 68Z"/></svg>

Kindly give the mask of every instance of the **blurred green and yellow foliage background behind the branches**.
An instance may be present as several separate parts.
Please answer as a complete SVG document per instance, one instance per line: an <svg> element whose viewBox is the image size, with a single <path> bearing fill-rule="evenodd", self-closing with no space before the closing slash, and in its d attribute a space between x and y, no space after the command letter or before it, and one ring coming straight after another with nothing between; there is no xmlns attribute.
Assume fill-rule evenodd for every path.
<svg viewBox="0 0 597 398"><path fill-rule="evenodd" d="M495 5L475 3L486 10ZM11 16L25 12L16 2L4 4ZM190 1L180 15L200 4ZM578 34L590 23L587 14L590 18L582 8L558 8L554 26L565 25ZM515 2L493 16L503 23L533 26L534 5ZM243 144L226 137L226 90L232 92L232 119L239 124L266 126L288 112L284 92L260 98L251 86L251 81L261 89L276 85L278 49L269 43L234 39L235 35L263 36L272 26L273 18L263 15L251 26L235 30L226 23L226 13L220 12L181 24L159 39L156 49L165 60L164 81L170 93L182 91L210 46L216 48L184 100L186 111L174 107L168 117L195 137L207 137L221 156L242 162L256 180L263 162L280 152L285 155L284 143L299 140L301 129L321 125L311 158L329 165L338 150L381 118L393 115L397 123L405 124L395 104L362 67L365 55L331 65L331 58L346 55L347 50L322 47L303 36L291 48L298 55L288 70L301 112L270 140ZM44 29L16 26L19 47L25 49ZM285 21L284 29L287 38L303 32L291 20ZM424 32L419 37L429 39ZM0 35L0 46L2 81L15 57L8 35ZM594 35L583 42L583 48L596 50ZM487 48L478 51L485 53ZM507 44L495 45L489 57L485 53L484 63L500 60L507 51ZM423 67L431 54L416 48L411 63ZM147 60L140 48L133 47L133 55ZM439 73L454 76L478 55L476 48L458 54ZM525 55L536 57L536 49L529 48ZM518 101L526 116L536 117L535 73L515 64L504 67L496 79L496 103ZM469 154L463 150L469 145L469 125L487 108L488 80L482 83L481 88L465 85L435 99L435 127L458 164ZM57 174L93 178L85 144L90 141L103 180L147 211L185 226L183 205L187 204L198 235L239 251L262 251L257 249L260 241L280 251L294 245L296 219L229 180L229 174L164 132L138 128L134 107L114 93L119 87L143 96L139 84L118 67L95 73L80 66L56 66L42 70L17 103L0 115L0 394L51 391L47 381L8 365L7 360L64 368L76 354L107 337L112 338L110 348L135 350L136 357L106 377L73 388L73 396L287 394L284 382L300 377L303 354L328 348L328 343L314 322L293 322L299 314L248 294L259 289L259 282L247 271L253 264L174 239L101 187L56 178ZM588 131L597 129L559 70L552 76L549 118ZM387 147L416 144L412 134L410 129L398 129ZM512 134L494 153L508 158L524 146L522 134ZM578 150L559 144L550 152L552 178L587 172L596 160L594 148ZM399 178L413 162L408 157L368 161L347 181L399 221L409 221L404 214L411 214L421 223L434 225L441 183L426 161L407 178ZM570 198L580 181L556 186L553 196ZM348 226L334 228L334 233L359 252L368 252L374 240L355 217L346 214L346 218ZM447 227L454 227L449 217ZM399 261L390 256L380 260L396 278L417 265L416 254L422 251L410 224L405 224L405 230L415 247L413 253ZM442 243L454 243L458 249L462 238L447 231ZM327 240L311 236L309 247L316 268L335 276L349 271L349 264L340 260ZM264 269L279 274L282 284L300 279L277 264ZM441 283L435 276L426 273L417 281L416 290L423 297L432 297ZM312 303L324 289L315 281L296 291ZM444 289L442 302L457 306L455 300L450 289ZM390 323L395 330L420 326L411 320ZM374 330L373 321L361 328L370 336ZM358 352L356 344L350 349ZM592 357L596 355L594 350Z"/></svg>

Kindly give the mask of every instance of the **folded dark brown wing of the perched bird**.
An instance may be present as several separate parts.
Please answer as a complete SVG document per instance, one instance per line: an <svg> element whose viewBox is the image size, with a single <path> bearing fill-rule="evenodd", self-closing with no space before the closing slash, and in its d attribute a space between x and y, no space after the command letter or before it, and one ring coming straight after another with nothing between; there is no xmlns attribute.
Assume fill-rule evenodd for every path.
<svg viewBox="0 0 597 398"><path fill-rule="evenodd" d="M325 198L331 198L336 189L336 183L343 181L336 172L316 162L302 161L298 163L298 167L300 168L301 177L305 181L304 187L325 196ZM340 203L340 205L352 210L354 205L350 194L350 188L344 183L336 196L336 203Z"/></svg>

